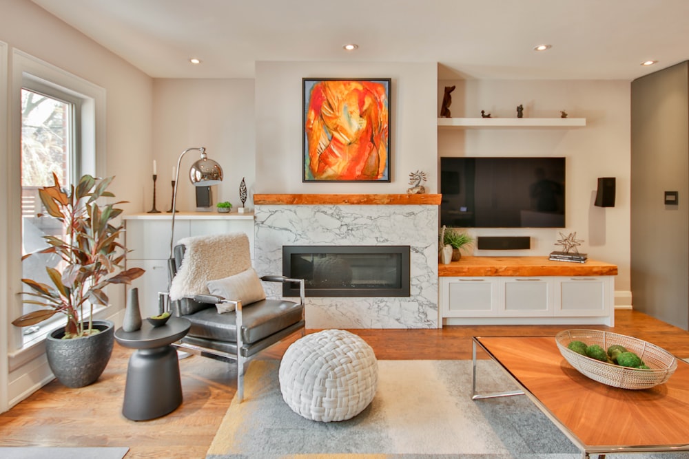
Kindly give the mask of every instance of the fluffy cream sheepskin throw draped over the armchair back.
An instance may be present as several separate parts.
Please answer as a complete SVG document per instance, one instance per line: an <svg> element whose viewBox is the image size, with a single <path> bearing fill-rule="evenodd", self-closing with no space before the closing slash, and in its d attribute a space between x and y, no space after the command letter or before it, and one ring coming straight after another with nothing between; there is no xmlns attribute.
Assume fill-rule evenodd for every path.
<svg viewBox="0 0 689 459"><path fill-rule="evenodd" d="M208 295L206 283L251 268L249 237L245 233L192 236L177 244L186 247L182 266L172 279L170 299Z"/></svg>

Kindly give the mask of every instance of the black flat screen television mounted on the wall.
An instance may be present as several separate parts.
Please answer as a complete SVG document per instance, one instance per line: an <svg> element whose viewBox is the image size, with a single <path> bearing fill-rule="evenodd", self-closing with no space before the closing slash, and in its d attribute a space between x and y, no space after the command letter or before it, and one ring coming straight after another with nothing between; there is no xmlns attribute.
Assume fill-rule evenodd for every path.
<svg viewBox="0 0 689 459"><path fill-rule="evenodd" d="M565 158L440 158L440 224L564 228Z"/></svg>

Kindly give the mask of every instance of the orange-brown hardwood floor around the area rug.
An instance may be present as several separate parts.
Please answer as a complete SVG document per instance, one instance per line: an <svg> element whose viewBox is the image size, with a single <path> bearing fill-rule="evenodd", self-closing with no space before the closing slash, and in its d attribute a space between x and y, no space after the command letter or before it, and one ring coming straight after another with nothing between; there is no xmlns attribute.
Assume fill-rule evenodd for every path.
<svg viewBox="0 0 689 459"><path fill-rule="evenodd" d="M689 332L632 310L615 312L612 330L689 357ZM572 325L448 326L440 330L351 330L373 347L378 359L471 359L473 336L545 336ZM313 330L309 330L313 331ZM294 337L296 339L297 337ZM285 341L265 352L279 358ZM115 344L95 384L69 389L56 381L0 414L1 446L126 446L125 459L204 458L235 392L232 365L192 356L180 361L184 402L171 414L134 422L121 414L127 361L132 350Z"/></svg>

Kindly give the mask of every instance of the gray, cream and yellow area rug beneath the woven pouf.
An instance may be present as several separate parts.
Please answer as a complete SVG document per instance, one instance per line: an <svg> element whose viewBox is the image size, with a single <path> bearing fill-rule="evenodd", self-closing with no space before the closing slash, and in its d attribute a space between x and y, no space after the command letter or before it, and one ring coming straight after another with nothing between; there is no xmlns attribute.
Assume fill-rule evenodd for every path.
<svg viewBox="0 0 689 459"><path fill-rule="evenodd" d="M378 361L369 407L317 423L282 401L277 361L254 361L245 401L233 401L207 459L580 459L582 453L526 398L471 400L471 361ZM493 361L479 361L482 393L515 389ZM595 456L593 456L595 457ZM608 459L689 459L689 453L608 454Z"/></svg>

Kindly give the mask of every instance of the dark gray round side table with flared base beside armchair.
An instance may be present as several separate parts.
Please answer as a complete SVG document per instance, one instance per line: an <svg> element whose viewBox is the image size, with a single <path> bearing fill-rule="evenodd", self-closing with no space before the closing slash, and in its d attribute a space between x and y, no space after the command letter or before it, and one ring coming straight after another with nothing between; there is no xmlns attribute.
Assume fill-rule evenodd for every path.
<svg viewBox="0 0 689 459"><path fill-rule="evenodd" d="M115 339L136 349L127 366L122 414L131 420L148 420L173 412L182 403L177 352L170 344L189 332L187 319L171 317L161 327L143 321L141 330L115 330Z"/></svg>

